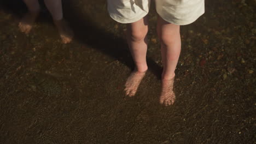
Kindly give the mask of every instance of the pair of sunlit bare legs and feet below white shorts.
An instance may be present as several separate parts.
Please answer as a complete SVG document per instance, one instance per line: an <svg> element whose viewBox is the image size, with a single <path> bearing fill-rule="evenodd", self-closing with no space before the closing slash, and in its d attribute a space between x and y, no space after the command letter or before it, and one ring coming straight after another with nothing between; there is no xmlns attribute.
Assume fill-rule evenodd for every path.
<svg viewBox="0 0 256 144"><path fill-rule="evenodd" d="M127 41L135 62L135 70L133 70L125 85L126 94L130 97L135 95L139 83L148 69L146 62L147 32L147 16L127 24ZM181 52L181 36L178 25L166 22L160 16L158 16L157 33L161 42L162 65L164 67L160 103L167 106L173 104L175 100L173 92L174 70Z"/></svg>

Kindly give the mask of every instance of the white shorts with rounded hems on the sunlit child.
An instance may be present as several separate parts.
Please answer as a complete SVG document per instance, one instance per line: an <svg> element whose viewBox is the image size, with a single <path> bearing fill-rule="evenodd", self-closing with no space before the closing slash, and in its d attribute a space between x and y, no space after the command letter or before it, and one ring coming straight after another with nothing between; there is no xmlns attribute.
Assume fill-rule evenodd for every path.
<svg viewBox="0 0 256 144"><path fill-rule="evenodd" d="M151 0L108 0L110 17L132 23L148 14ZM204 0L155 0L157 13L167 22L188 25L205 13Z"/></svg>

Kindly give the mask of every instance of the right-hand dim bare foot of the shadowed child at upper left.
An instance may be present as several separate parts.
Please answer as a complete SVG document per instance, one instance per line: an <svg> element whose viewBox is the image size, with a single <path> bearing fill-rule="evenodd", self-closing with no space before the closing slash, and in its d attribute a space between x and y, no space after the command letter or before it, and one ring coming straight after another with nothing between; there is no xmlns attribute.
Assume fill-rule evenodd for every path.
<svg viewBox="0 0 256 144"><path fill-rule="evenodd" d="M54 23L60 33L62 43L64 44L70 43L74 36L74 33L71 30L71 28L68 26L68 23L64 19L54 20Z"/></svg>

